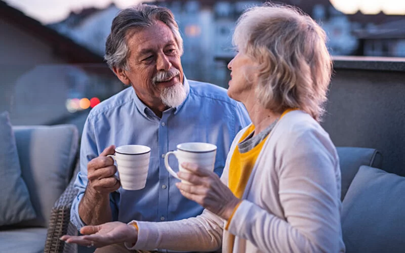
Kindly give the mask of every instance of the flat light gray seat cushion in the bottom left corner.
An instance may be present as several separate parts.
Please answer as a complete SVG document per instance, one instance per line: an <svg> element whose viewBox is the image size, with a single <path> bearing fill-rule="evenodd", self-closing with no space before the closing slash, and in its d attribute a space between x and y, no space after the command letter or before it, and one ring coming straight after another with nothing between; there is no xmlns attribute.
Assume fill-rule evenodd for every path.
<svg viewBox="0 0 405 253"><path fill-rule="evenodd" d="M44 252L46 228L22 228L0 231L0 252Z"/></svg>

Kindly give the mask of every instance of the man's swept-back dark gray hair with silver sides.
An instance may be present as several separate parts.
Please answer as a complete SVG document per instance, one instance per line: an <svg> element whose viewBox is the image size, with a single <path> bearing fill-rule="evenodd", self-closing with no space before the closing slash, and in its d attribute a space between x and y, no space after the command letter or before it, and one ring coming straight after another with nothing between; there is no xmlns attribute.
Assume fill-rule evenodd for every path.
<svg viewBox="0 0 405 253"><path fill-rule="evenodd" d="M108 66L128 69L127 57L130 50L126 36L133 28L149 27L157 21L165 23L172 30L180 55L183 54L183 39L180 36L173 13L165 7L139 4L121 10L112 21L111 32L105 43L104 59ZM157 39L157 38L156 38Z"/></svg>

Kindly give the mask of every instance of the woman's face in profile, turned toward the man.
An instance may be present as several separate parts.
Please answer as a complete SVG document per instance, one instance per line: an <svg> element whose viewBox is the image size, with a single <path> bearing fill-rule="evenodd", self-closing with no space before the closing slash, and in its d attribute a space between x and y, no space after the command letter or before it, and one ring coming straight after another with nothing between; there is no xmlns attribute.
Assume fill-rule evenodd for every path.
<svg viewBox="0 0 405 253"><path fill-rule="evenodd" d="M242 51L229 62L231 71L228 96L236 101L245 103L248 98L254 98L254 87L257 83L257 64Z"/></svg>

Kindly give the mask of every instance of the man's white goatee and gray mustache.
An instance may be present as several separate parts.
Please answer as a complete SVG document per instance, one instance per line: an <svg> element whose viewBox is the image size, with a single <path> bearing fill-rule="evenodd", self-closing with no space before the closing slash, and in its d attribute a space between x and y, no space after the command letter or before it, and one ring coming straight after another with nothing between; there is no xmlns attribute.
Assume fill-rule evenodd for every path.
<svg viewBox="0 0 405 253"><path fill-rule="evenodd" d="M152 78L152 83L156 86L156 82L170 80L179 74L180 71L178 69L171 67L169 71L157 72ZM180 82L171 87L161 88L159 91L162 103L168 107L177 107L181 105L186 98L186 91L184 90L183 83Z"/></svg>

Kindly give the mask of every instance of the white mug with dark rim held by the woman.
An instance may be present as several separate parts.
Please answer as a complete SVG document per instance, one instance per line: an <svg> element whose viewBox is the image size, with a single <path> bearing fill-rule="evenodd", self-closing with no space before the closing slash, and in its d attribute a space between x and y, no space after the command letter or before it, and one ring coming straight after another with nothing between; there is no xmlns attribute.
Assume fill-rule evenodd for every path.
<svg viewBox="0 0 405 253"><path fill-rule="evenodd" d="M167 152L165 155L166 170L175 178L179 179L176 172L169 165L169 155L174 154L179 161L179 171L186 171L181 166L183 162L195 163L200 168L205 168L209 171L214 171L215 156L217 154L217 146L204 142L187 142L177 145L177 150ZM182 180L184 183L187 181Z"/></svg>

